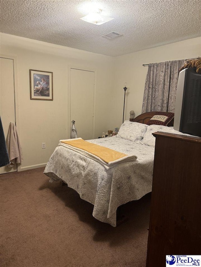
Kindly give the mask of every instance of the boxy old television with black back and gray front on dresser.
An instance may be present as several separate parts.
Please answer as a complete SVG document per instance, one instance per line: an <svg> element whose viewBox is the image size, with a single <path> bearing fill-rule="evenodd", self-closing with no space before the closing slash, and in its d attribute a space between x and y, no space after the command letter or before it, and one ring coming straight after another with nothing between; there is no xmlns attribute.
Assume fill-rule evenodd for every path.
<svg viewBox="0 0 201 267"><path fill-rule="evenodd" d="M201 74L183 69L177 82L174 130L201 136Z"/></svg>

